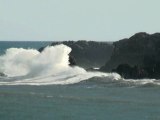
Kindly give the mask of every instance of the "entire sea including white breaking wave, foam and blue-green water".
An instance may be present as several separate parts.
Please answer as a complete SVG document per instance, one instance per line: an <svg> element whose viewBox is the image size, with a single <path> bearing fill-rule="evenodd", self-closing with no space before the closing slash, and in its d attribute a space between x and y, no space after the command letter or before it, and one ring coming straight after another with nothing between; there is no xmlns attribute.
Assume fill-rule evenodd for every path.
<svg viewBox="0 0 160 120"><path fill-rule="evenodd" d="M0 42L0 120L160 120L160 82L68 64L51 41Z"/></svg>

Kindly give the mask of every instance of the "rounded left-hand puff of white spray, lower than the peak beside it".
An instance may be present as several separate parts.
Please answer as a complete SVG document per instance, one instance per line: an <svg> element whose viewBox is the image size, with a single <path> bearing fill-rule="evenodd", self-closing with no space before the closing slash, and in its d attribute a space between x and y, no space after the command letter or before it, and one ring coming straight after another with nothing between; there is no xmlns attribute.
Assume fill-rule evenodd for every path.
<svg viewBox="0 0 160 120"><path fill-rule="evenodd" d="M9 77L26 75L31 62L39 54L37 50L10 48L0 56L0 72Z"/></svg>

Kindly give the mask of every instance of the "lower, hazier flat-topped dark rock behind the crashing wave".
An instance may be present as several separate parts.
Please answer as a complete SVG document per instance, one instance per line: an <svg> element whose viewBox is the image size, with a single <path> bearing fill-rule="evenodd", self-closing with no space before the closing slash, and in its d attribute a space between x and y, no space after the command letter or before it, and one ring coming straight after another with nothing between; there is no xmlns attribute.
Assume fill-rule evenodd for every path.
<svg viewBox="0 0 160 120"><path fill-rule="evenodd" d="M109 60L113 51L112 43L94 41L63 41L53 42L51 46L64 44L72 48L70 61L76 61L78 66L84 68L101 67ZM42 51L40 48L39 51Z"/></svg>

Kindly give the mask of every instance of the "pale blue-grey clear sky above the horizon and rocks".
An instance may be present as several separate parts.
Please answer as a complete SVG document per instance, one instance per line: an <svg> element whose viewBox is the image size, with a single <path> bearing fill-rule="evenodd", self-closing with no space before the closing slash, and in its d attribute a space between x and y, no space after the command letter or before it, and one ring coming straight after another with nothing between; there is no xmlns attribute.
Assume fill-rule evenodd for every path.
<svg viewBox="0 0 160 120"><path fill-rule="evenodd" d="M160 0L0 0L0 40L117 41L160 32Z"/></svg>

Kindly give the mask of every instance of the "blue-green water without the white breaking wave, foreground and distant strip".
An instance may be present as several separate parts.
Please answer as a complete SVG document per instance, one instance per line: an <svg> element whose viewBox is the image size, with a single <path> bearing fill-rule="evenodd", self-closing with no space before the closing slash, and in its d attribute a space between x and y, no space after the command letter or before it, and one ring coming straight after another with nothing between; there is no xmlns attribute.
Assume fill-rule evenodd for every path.
<svg viewBox="0 0 160 120"><path fill-rule="evenodd" d="M105 78L72 85L1 85L0 120L160 120L160 86Z"/></svg>

